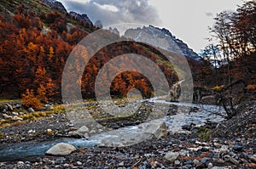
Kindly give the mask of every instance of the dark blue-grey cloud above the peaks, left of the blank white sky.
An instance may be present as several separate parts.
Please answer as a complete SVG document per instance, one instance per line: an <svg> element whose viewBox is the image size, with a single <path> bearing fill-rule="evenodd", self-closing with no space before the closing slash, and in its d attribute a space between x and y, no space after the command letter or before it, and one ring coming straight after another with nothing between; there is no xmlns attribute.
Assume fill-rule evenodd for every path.
<svg viewBox="0 0 256 169"><path fill-rule="evenodd" d="M148 0L60 0L68 11L87 14L92 20L101 20L103 26L120 23L138 23L144 25L160 24L156 9Z"/></svg>

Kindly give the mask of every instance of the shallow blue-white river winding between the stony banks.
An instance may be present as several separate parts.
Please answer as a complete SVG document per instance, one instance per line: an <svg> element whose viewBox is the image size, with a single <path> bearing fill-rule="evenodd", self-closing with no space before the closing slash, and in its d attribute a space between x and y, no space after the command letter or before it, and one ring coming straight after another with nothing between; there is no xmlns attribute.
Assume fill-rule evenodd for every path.
<svg viewBox="0 0 256 169"><path fill-rule="evenodd" d="M159 129L163 122L169 129L169 132L184 132L182 130L183 125L189 125L191 122L200 126L206 121L220 122L224 121L221 115L224 115L224 109L219 108L216 105L208 104L185 104L185 103L172 103L166 102L160 99L148 99L149 102L154 104L160 104L162 107L168 107L170 105L177 105L183 108L198 108L196 112L178 112L177 115L166 116L165 118L156 119L153 121L144 122L143 124L132 126L132 127L122 127L117 130L102 132L91 136L88 140L86 139L58 139L45 143L31 144L15 144L6 149L0 149L0 161L9 161L19 158L24 158L26 156L32 155L44 155L47 149L56 143L64 142L68 144L73 144L78 149L85 149L87 147L95 145L104 146L126 146L131 144L137 144L147 138L152 138L152 132ZM214 113L215 112L215 113ZM216 115L216 112L221 115Z"/></svg>

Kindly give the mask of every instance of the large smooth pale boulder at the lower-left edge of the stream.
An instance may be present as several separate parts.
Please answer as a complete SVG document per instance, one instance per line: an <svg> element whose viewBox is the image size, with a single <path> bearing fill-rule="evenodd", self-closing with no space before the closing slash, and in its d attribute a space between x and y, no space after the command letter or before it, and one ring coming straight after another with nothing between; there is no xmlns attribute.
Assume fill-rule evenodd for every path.
<svg viewBox="0 0 256 169"><path fill-rule="evenodd" d="M76 148L71 144L55 144L46 151L46 155L70 155Z"/></svg>

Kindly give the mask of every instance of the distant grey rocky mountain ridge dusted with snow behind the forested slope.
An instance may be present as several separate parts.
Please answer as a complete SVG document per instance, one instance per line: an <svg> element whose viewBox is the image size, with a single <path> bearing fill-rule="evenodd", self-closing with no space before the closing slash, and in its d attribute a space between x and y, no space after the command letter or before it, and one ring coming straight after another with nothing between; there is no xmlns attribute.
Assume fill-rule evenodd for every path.
<svg viewBox="0 0 256 169"><path fill-rule="evenodd" d="M134 39L138 42L148 42L159 48L172 51L177 54L183 54L192 59L199 60L200 57L186 43L177 39L165 28L160 29L153 25L143 26L143 28L128 29L125 31L125 37Z"/></svg>

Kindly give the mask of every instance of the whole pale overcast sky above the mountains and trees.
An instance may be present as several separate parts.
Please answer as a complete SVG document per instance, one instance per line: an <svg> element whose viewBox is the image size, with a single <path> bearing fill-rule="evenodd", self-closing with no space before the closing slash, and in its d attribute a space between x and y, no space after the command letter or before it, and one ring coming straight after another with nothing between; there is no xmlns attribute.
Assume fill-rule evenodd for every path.
<svg viewBox="0 0 256 169"><path fill-rule="evenodd" d="M165 27L200 52L207 45L208 26L224 10L235 11L242 0L59 0L68 11L87 14L103 26L139 23Z"/></svg>

